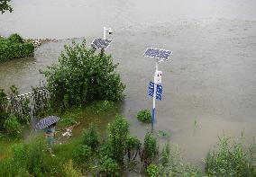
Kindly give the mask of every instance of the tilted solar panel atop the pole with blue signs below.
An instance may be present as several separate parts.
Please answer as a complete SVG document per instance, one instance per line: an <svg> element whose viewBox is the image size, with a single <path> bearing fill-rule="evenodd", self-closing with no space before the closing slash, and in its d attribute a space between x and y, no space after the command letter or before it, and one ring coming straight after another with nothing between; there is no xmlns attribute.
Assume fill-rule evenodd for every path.
<svg viewBox="0 0 256 177"><path fill-rule="evenodd" d="M147 58L157 58L160 60L168 60L171 54L172 54L172 51L170 50L147 48L143 56Z"/></svg>

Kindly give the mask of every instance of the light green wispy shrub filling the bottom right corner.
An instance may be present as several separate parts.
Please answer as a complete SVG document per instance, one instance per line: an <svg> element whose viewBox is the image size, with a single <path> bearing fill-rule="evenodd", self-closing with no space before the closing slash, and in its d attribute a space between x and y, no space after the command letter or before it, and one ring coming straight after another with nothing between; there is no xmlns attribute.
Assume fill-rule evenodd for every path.
<svg viewBox="0 0 256 177"><path fill-rule="evenodd" d="M247 151L241 141L220 137L216 149L206 156L206 173L216 176L256 176L256 148Z"/></svg>

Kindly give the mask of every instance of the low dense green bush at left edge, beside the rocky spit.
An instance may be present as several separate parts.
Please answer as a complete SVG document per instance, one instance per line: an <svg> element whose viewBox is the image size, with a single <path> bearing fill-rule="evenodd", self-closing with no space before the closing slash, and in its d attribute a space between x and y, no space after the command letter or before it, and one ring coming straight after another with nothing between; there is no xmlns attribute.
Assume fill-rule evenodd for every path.
<svg viewBox="0 0 256 177"><path fill-rule="evenodd" d="M24 43L22 37L18 34L0 40L0 61L32 57L33 55L34 47L32 43Z"/></svg>

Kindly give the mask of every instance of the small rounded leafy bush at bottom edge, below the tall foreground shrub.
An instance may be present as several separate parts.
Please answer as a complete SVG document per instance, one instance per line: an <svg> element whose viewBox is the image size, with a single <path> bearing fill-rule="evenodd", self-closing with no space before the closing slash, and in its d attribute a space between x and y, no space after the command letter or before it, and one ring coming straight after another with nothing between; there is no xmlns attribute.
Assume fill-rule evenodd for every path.
<svg viewBox="0 0 256 177"><path fill-rule="evenodd" d="M114 161L114 159L108 156L104 156L100 159L100 176L119 176L119 165Z"/></svg>

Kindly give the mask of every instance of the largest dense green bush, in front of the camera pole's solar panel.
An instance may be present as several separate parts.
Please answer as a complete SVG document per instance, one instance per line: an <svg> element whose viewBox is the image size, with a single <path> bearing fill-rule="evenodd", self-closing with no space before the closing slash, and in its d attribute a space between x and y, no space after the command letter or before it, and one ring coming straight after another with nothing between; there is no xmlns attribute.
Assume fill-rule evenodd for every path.
<svg viewBox="0 0 256 177"><path fill-rule="evenodd" d="M111 56L87 49L86 40L64 46L59 64L49 66L46 76L52 102L62 109L81 106L96 100L119 101L123 99L124 84L114 72L117 65Z"/></svg>

